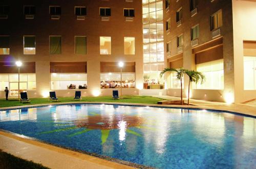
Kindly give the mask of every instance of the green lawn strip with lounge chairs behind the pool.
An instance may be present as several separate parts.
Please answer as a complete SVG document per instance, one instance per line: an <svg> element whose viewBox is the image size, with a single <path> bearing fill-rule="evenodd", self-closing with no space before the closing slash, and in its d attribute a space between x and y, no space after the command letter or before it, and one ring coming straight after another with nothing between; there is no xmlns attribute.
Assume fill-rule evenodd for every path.
<svg viewBox="0 0 256 169"><path fill-rule="evenodd" d="M32 105L32 104L47 104L47 103L67 103L74 102L73 97L60 97L58 102L50 102L48 98L30 98L30 103L19 103L17 99L0 99L0 107L11 107L20 105ZM113 100L111 96L99 96L99 97L82 97L81 101L86 102L118 102L118 103L144 103L144 104L157 104L159 99L150 96L123 96L123 99ZM81 102L75 101L75 102Z"/></svg>

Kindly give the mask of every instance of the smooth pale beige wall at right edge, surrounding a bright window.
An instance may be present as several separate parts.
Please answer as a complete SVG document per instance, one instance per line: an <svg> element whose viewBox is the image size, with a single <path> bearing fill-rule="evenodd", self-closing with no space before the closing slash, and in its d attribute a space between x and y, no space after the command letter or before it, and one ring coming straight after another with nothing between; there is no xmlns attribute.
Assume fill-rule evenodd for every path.
<svg viewBox="0 0 256 169"><path fill-rule="evenodd" d="M244 102L256 98L256 91L244 90L243 41L256 41L256 2L232 1L234 37L235 100Z"/></svg>

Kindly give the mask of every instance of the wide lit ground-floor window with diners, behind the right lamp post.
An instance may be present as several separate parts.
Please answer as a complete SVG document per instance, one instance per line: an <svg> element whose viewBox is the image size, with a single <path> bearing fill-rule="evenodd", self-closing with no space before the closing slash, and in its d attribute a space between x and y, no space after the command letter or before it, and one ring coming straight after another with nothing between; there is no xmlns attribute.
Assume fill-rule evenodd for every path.
<svg viewBox="0 0 256 169"><path fill-rule="evenodd" d="M120 73L101 73L100 87L101 89L117 89L117 88L135 88L135 73L122 73L122 82Z"/></svg>

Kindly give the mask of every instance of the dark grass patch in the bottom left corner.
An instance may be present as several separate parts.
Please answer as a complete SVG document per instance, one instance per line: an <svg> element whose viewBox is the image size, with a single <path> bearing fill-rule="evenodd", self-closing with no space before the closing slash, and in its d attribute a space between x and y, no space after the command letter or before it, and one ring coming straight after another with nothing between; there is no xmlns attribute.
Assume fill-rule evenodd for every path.
<svg viewBox="0 0 256 169"><path fill-rule="evenodd" d="M41 164L27 161L11 154L0 150L0 168L14 169L14 168L40 168L47 169L48 167L42 166Z"/></svg>

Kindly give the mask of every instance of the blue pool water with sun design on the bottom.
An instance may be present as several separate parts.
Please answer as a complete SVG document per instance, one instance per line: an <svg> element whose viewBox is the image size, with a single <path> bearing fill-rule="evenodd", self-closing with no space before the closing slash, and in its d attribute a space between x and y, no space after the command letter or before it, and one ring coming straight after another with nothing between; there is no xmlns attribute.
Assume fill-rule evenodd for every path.
<svg viewBox="0 0 256 169"><path fill-rule="evenodd" d="M54 105L2 110L0 129L157 168L256 166L256 119L227 112Z"/></svg>

